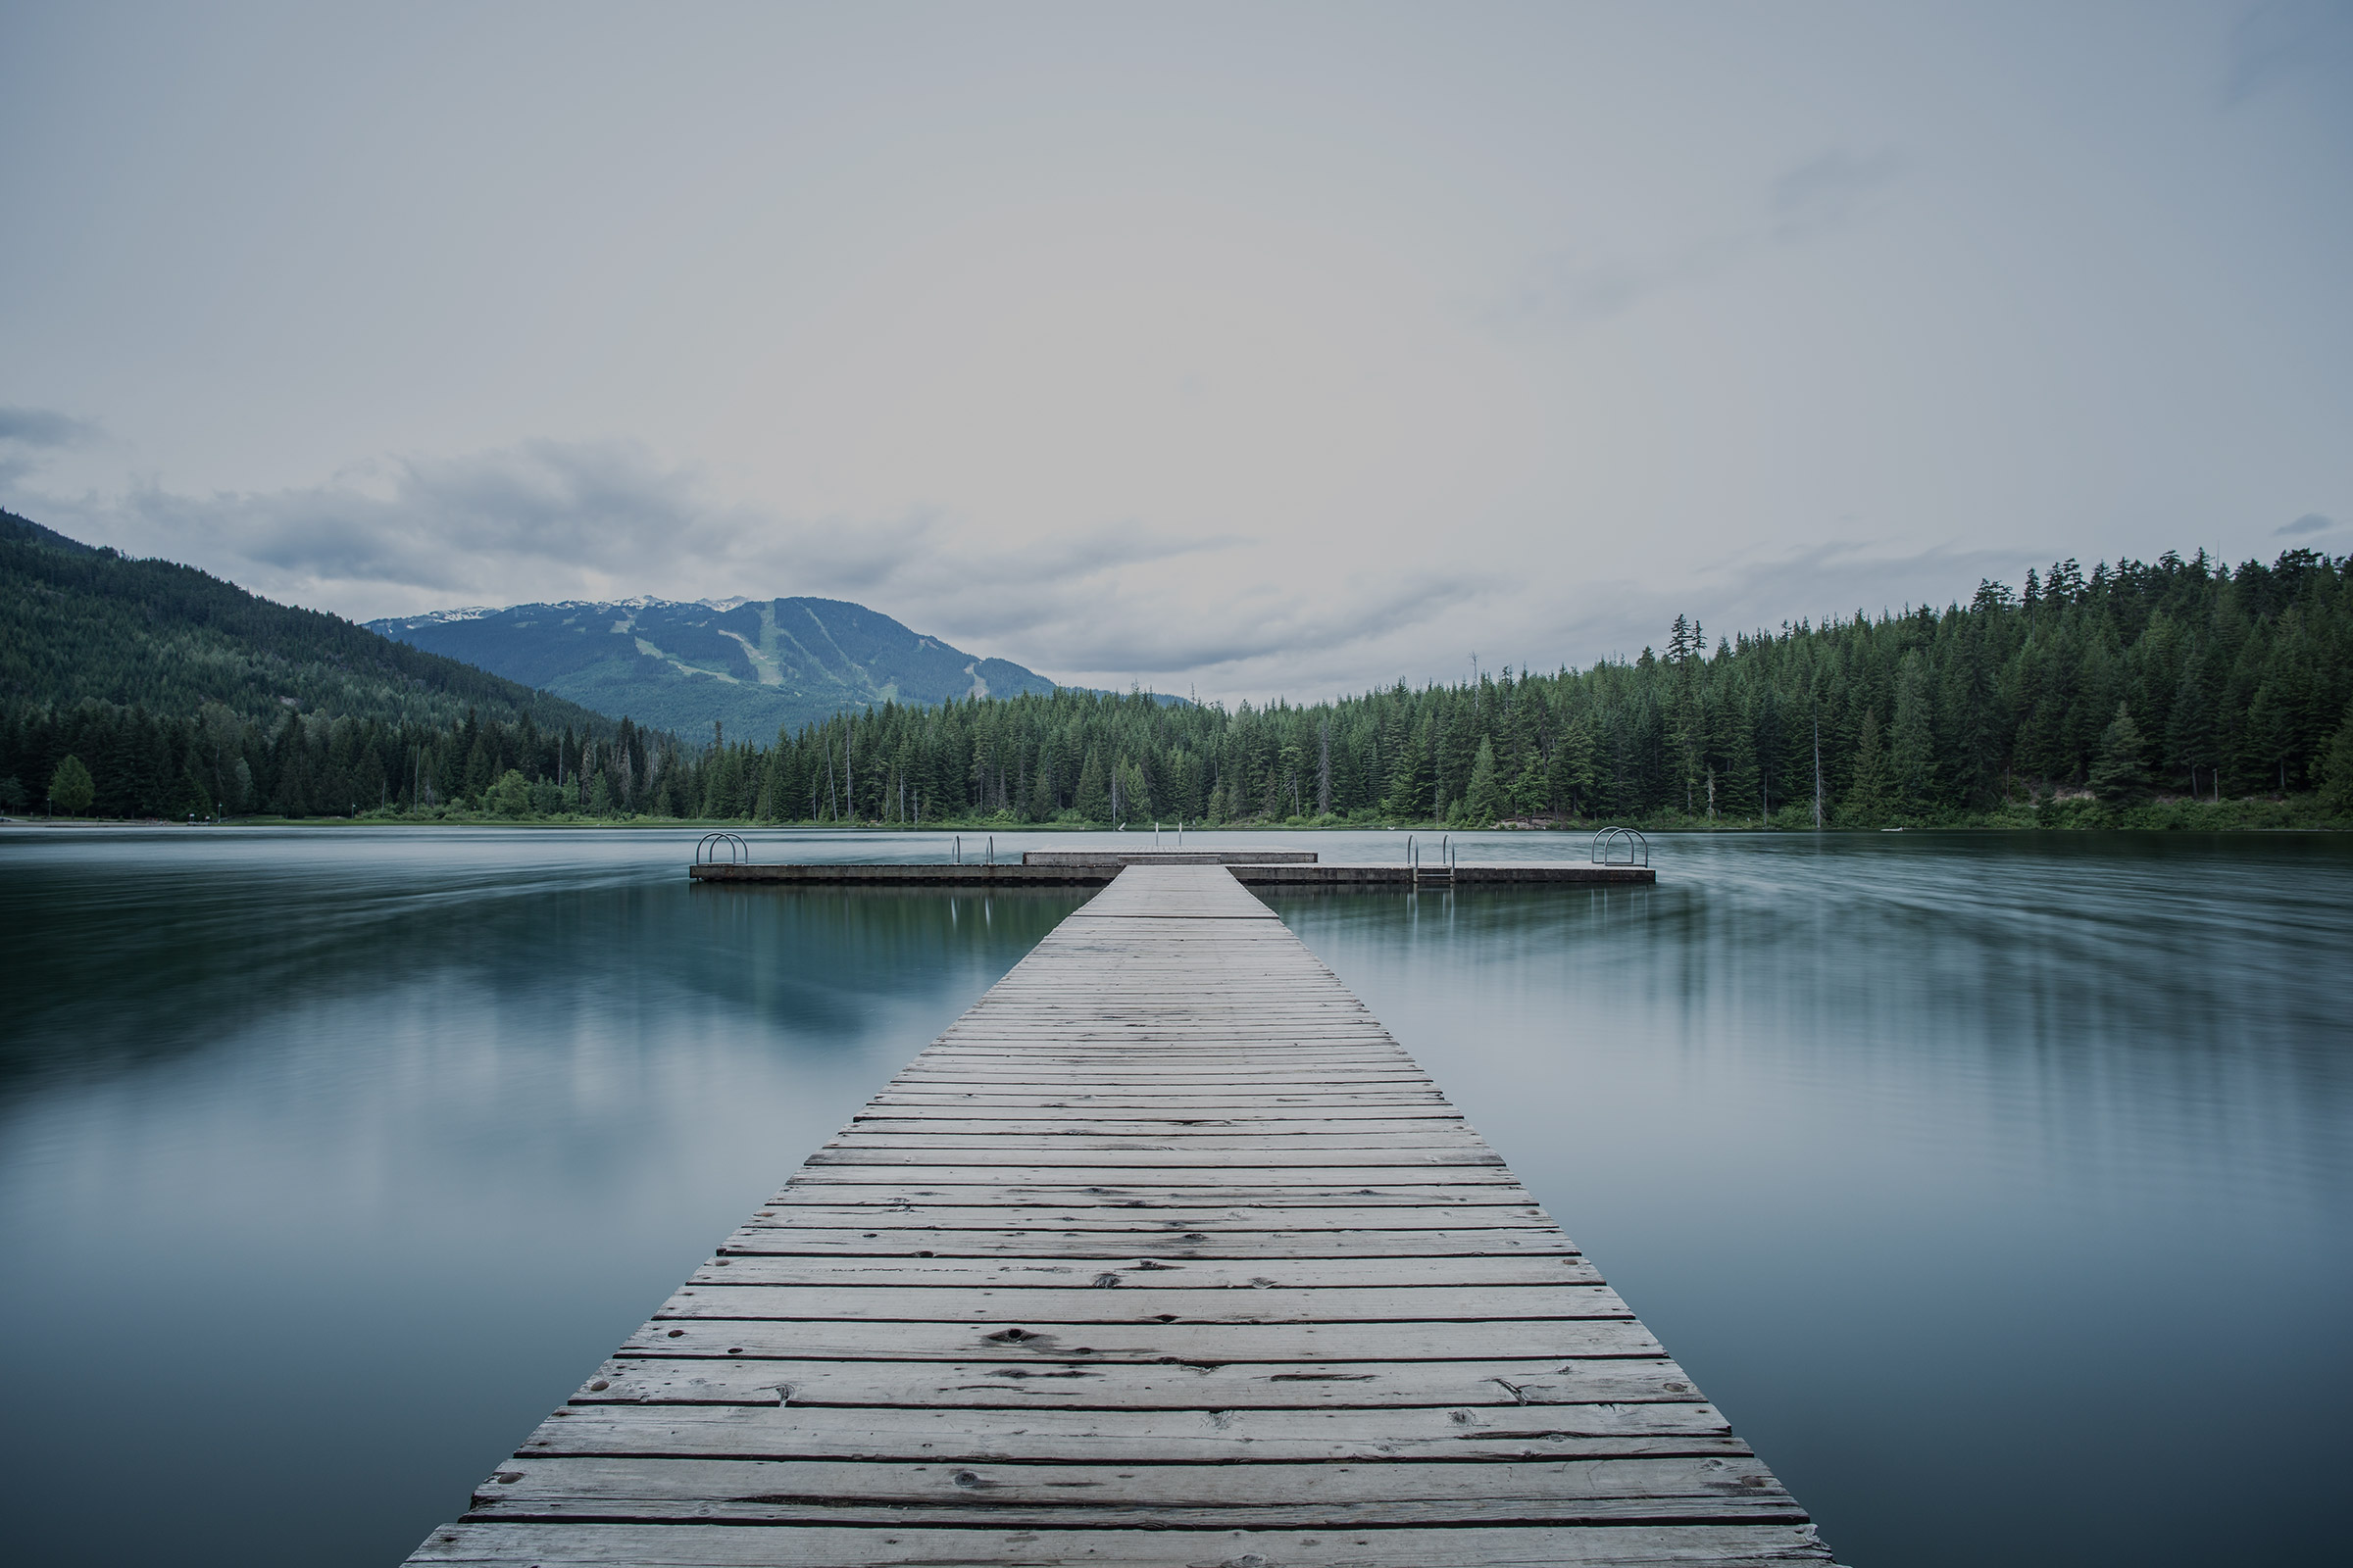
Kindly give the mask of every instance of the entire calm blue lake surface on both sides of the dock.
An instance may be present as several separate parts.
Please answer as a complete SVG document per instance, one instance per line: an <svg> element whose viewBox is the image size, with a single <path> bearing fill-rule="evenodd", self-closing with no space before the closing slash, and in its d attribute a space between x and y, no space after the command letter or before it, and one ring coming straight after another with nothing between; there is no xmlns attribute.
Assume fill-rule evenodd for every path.
<svg viewBox="0 0 2353 1568"><path fill-rule="evenodd" d="M16 1561L398 1563L1078 903L692 842L0 830ZM1278 907L1842 1561L2344 1561L2353 839L1657 865Z"/></svg>

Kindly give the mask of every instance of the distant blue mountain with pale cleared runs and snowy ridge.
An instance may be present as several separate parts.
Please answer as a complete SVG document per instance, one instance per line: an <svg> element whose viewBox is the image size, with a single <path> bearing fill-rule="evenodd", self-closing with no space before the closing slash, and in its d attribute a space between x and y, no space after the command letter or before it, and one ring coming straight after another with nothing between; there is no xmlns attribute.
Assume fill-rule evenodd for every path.
<svg viewBox="0 0 2353 1568"><path fill-rule="evenodd" d="M708 738L715 719L767 741L845 708L1054 691L1035 670L845 599L572 599L367 625L687 738Z"/></svg>

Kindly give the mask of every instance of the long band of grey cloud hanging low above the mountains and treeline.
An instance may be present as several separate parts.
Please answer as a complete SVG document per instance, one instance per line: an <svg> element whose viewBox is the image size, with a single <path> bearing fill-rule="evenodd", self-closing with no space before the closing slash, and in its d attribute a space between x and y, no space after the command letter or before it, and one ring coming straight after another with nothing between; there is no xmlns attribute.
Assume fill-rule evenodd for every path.
<svg viewBox="0 0 2353 1568"><path fill-rule="evenodd" d="M1435 564L1334 564L1249 529L1167 534L1125 520L1005 536L944 510L788 517L718 496L635 442L522 442L398 458L334 482L188 496L26 498L80 538L184 559L353 618L459 604L828 595L1054 679L1202 696L1327 696L1457 679L1501 663L1591 663L1657 644L1675 614L1713 632L1967 599L2024 552L1831 541L1722 557L1673 581ZM2301 527L2301 524L2292 524ZM1518 564L1515 564L1518 562Z"/></svg>

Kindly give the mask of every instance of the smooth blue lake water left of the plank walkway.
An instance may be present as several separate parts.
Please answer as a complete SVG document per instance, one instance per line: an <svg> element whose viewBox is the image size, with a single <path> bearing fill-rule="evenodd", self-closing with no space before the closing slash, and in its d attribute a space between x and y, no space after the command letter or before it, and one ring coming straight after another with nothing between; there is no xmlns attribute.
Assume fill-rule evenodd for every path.
<svg viewBox="0 0 2353 1568"><path fill-rule="evenodd" d="M59 837L0 839L40 1563L400 1561L1078 903L696 889L692 835Z"/></svg>

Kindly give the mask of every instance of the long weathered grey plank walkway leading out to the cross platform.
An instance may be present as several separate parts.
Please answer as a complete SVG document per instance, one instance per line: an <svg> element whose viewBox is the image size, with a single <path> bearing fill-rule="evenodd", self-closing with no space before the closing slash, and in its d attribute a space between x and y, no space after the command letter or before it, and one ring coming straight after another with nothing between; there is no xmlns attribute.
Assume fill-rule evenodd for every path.
<svg viewBox="0 0 2353 1568"><path fill-rule="evenodd" d="M1826 1563L1233 872L1132 867L412 1563Z"/></svg>

